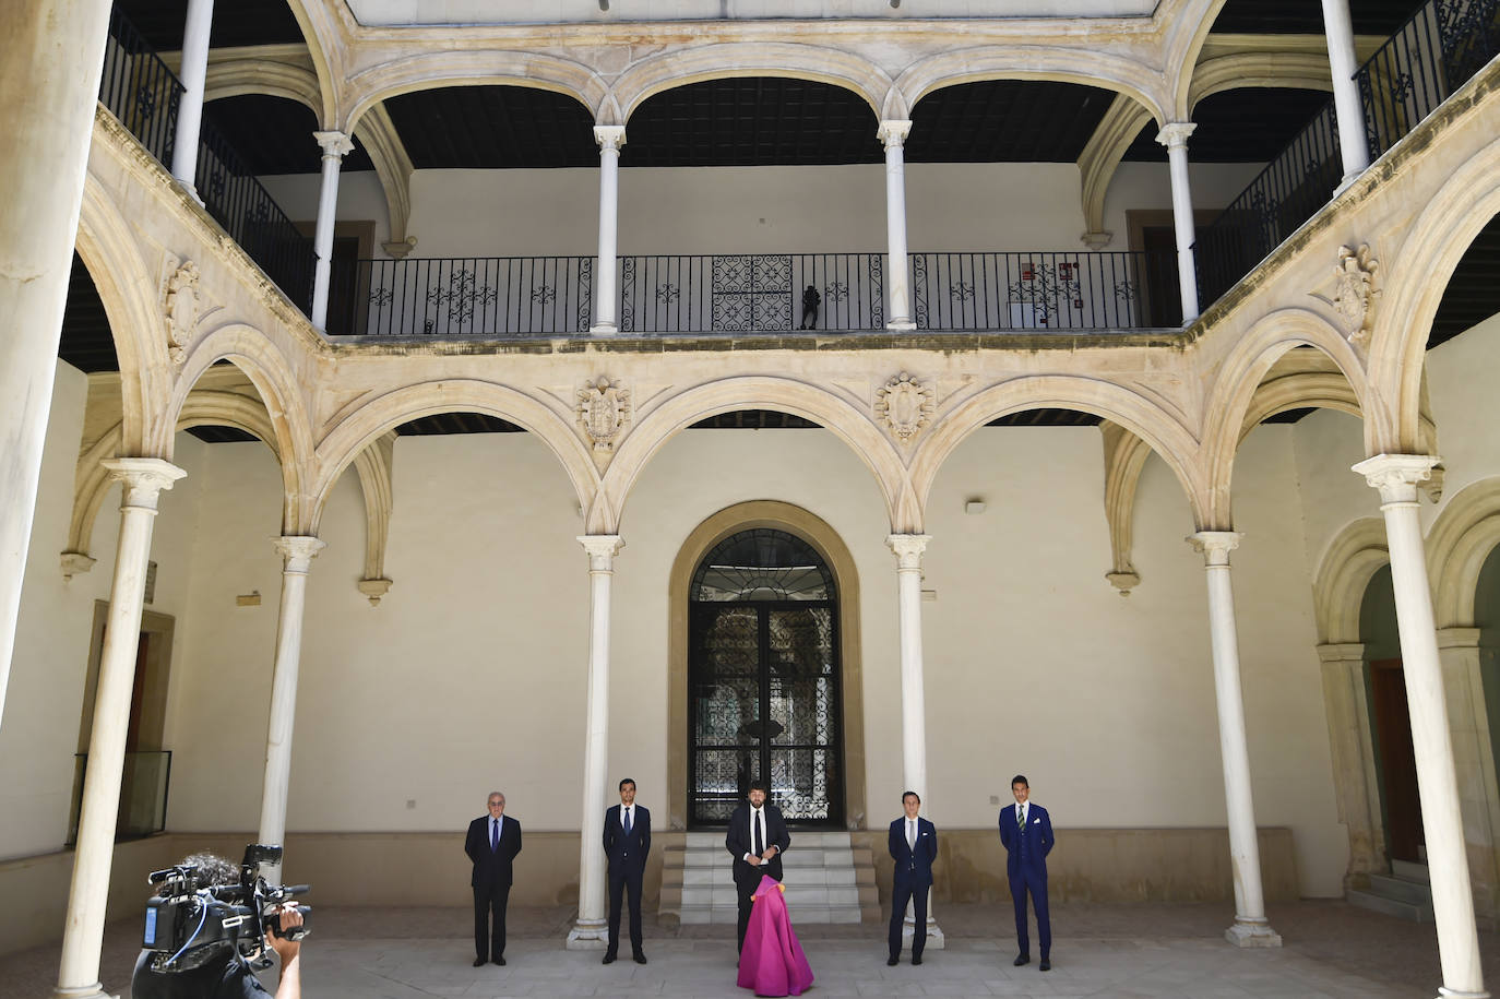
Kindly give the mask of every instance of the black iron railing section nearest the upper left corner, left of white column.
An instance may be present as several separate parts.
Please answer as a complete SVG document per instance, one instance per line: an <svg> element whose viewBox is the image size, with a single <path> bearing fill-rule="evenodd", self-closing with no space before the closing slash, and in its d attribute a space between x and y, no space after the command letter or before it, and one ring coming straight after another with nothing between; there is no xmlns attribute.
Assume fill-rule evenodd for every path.
<svg viewBox="0 0 1500 999"><path fill-rule="evenodd" d="M104 50L99 104L110 108L124 128L165 166L172 165L177 140L177 106L183 86L129 18L110 12L110 39Z"/></svg>

